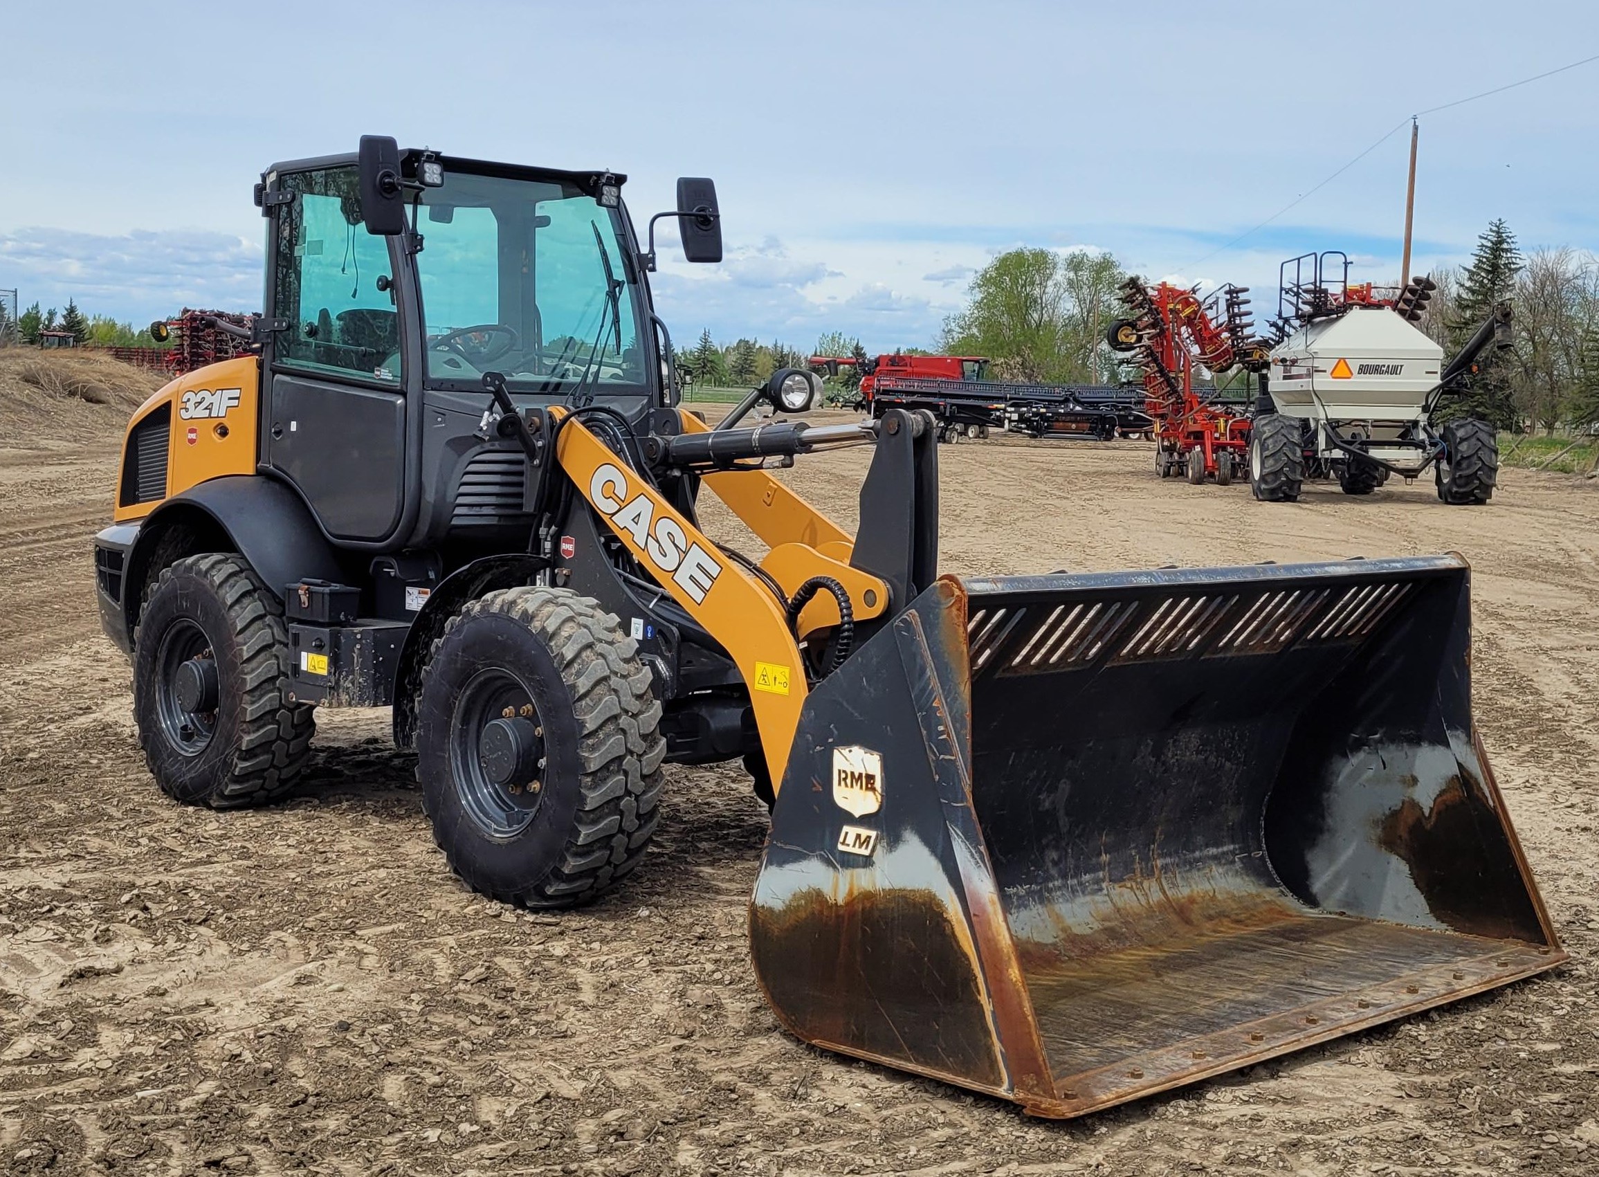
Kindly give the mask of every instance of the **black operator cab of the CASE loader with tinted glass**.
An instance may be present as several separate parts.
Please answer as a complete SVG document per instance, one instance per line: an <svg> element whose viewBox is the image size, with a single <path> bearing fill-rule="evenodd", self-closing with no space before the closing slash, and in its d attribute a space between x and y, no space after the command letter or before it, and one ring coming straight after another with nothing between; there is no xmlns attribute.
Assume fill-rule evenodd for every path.
<svg viewBox="0 0 1599 1177"><path fill-rule="evenodd" d="M261 465L329 539L393 552L524 531L520 451L483 433L486 373L523 408L598 403L632 427L676 401L624 182L374 136L262 174ZM720 261L715 189L678 190L689 261Z"/></svg>

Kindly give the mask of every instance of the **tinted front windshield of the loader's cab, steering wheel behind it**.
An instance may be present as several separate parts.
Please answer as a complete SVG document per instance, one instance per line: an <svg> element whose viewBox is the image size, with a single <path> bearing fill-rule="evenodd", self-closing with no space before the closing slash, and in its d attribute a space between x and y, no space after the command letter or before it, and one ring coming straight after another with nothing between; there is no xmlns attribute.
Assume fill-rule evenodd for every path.
<svg viewBox="0 0 1599 1177"><path fill-rule="evenodd" d="M446 171L425 189L417 254L435 387L643 395L640 291L620 209L576 184Z"/></svg>

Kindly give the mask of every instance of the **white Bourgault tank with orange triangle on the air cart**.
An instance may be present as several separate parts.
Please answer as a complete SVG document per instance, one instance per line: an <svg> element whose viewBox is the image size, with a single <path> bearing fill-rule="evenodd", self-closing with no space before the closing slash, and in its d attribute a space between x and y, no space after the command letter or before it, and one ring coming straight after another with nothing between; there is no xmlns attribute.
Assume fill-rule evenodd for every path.
<svg viewBox="0 0 1599 1177"><path fill-rule="evenodd" d="M1420 421L1444 369L1444 349L1388 307L1353 305L1300 326L1271 352L1271 400L1279 413L1370 425L1394 437ZM1375 456L1383 456L1378 449Z"/></svg>

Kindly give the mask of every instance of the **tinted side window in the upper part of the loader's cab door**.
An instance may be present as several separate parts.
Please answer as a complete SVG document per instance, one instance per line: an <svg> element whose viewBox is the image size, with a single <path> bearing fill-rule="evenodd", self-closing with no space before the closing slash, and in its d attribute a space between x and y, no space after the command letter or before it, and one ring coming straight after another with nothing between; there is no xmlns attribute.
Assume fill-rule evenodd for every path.
<svg viewBox="0 0 1599 1177"><path fill-rule="evenodd" d="M273 315L289 326L277 361L398 384L389 238L366 232L355 168L293 173L280 187L294 200L278 213Z"/></svg>

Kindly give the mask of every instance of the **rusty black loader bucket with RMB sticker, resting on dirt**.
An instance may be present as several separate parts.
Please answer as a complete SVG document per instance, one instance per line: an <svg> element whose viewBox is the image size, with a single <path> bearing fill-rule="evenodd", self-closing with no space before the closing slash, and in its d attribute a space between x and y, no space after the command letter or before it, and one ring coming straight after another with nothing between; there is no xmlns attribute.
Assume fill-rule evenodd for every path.
<svg viewBox="0 0 1599 1177"><path fill-rule="evenodd" d="M1076 1116L1557 964L1468 596L1455 557L940 579L806 700L779 1017Z"/></svg>

